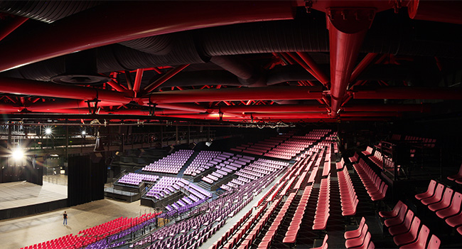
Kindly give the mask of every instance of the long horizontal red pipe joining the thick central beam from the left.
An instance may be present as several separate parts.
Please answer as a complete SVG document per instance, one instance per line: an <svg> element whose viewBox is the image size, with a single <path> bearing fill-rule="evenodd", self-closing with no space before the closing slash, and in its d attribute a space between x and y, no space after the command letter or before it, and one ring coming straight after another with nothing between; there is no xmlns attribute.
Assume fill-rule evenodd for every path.
<svg viewBox="0 0 462 249"><path fill-rule="evenodd" d="M153 103L215 102L253 100L316 100L323 95L321 87L220 88L154 92Z"/></svg>

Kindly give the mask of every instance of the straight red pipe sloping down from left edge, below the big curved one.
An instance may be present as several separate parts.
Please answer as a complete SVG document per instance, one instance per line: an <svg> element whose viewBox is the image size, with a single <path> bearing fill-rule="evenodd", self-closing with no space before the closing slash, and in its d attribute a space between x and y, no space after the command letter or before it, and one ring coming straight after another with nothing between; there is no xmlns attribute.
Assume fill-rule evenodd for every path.
<svg viewBox="0 0 462 249"><path fill-rule="evenodd" d="M96 88L85 88L75 85L60 85L55 83L24 80L15 78L0 78L0 92L21 95L38 95L43 97L63 97L77 100L98 100L127 104L131 101L129 92L115 92Z"/></svg>

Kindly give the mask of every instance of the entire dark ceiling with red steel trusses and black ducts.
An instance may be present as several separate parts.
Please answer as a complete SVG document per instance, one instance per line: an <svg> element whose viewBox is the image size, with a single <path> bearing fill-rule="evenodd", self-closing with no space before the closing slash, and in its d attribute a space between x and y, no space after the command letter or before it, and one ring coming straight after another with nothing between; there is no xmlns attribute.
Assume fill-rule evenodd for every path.
<svg viewBox="0 0 462 249"><path fill-rule="evenodd" d="M461 112L461 41L461 1L0 1L0 112L450 115Z"/></svg>

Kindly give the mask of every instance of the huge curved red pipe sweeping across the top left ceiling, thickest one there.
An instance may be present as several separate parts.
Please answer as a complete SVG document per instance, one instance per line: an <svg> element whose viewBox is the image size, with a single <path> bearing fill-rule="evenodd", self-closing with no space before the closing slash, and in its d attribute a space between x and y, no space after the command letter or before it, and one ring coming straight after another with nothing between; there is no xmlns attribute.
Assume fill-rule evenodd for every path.
<svg viewBox="0 0 462 249"><path fill-rule="evenodd" d="M146 36L293 18L292 1L117 1L55 21L27 39L2 44L0 55L9 60L0 61L0 71Z"/></svg>

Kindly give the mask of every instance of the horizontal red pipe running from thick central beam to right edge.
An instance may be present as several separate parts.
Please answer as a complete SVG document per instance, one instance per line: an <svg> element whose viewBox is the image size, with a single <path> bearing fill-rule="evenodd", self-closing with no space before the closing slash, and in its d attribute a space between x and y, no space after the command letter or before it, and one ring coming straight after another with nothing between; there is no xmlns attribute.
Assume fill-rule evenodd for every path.
<svg viewBox="0 0 462 249"><path fill-rule="evenodd" d="M414 88L386 87L353 92L355 99L392 99L392 100L462 100L462 90L457 88Z"/></svg>

